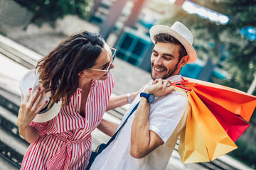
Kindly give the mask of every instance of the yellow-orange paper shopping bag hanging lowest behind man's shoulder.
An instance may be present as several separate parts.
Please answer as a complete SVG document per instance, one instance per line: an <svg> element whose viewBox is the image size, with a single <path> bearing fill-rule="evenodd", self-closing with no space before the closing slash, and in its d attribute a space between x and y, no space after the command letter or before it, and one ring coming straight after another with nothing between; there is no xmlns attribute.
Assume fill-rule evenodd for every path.
<svg viewBox="0 0 256 170"><path fill-rule="evenodd" d="M182 162L209 162L236 149L233 140L195 91L192 90L188 97L191 106L178 146Z"/></svg>

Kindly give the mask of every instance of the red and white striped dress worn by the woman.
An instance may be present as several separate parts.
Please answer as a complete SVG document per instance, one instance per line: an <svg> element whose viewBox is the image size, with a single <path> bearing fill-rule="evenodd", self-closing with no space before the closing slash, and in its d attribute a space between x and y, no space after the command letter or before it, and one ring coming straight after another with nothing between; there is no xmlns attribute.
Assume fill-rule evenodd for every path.
<svg viewBox="0 0 256 170"><path fill-rule="evenodd" d="M85 169L91 154L91 132L100 124L112 94L114 76L94 80L85 106L81 106L81 89L70 104L46 123L31 122L40 138L31 143L23 157L21 169ZM80 108L85 107L85 118Z"/></svg>

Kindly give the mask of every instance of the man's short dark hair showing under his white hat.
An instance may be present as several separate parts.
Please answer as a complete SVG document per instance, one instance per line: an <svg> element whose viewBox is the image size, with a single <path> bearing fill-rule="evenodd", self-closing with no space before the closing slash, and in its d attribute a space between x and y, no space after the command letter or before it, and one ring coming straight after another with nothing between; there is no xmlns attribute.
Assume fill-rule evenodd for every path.
<svg viewBox="0 0 256 170"><path fill-rule="evenodd" d="M180 49L178 50L178 62L181 61L181 58L188 55L188 53L186 52L185 47L181 44L181 42L179 42L176 38L174 38L173 36L166 34L166 33L159 33L154 35L154 40L155 43L156 42L170 42L170 43L174 43L175 45L180 45Z"/></svg>

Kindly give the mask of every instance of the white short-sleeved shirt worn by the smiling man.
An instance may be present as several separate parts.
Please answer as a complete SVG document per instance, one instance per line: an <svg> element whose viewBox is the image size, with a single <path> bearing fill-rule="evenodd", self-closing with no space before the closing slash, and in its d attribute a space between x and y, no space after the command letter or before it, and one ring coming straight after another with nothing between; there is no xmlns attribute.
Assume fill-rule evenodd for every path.
<svg viewBox="0 0 256 170"><path fill-rule="evenodd" d="M180 81L181 76L176 75L169 77L169 79L172 79L174 82ZM140 97L138 95L127 110L120 125L122 125L139 101ZM153 130L159 137L161 137L164 141L164 145L157 147L142 159L136 159L130 155L132 122L136 112L134 111L114 141L112 141L112 143L96 157L91 169L166 169L171 153L178 140L178 135L186 125L187 115L183 113L187 113L187 108L188 97L185 93L178 91L173 91L167 96L158 97L151 103L149 129Z"/></svg>

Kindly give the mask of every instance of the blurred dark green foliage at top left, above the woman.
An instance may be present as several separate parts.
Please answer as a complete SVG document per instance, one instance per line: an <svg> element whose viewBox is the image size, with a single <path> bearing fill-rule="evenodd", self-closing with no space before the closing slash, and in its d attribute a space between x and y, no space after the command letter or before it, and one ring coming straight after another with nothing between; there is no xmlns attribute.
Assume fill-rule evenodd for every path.
<svg viewBox="0 0 256 170"><path fill-rule="evenodd" d="M15 0L34 13L32 21L55 21L67 14L75 14L87 19L92 11L92 0Z"/></svg>

